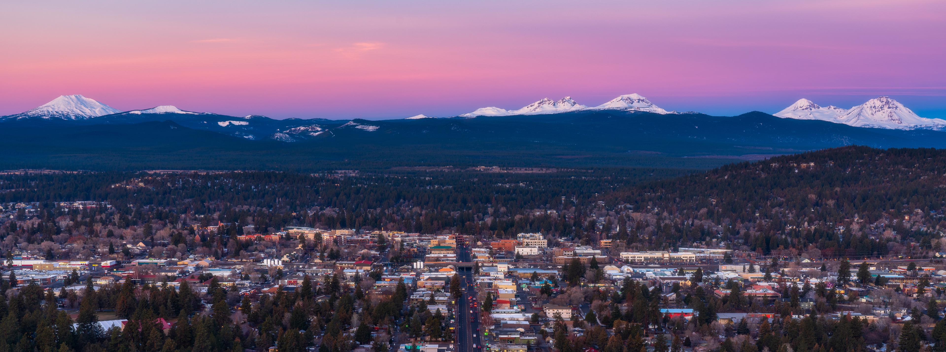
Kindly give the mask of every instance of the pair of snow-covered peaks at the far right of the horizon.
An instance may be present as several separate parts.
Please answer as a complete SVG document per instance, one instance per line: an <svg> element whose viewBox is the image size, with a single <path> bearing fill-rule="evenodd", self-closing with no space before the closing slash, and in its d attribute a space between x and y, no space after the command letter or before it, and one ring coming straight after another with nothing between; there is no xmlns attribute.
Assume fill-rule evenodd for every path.
<svg viewBox="0 0 946 352"><path fill-rule="evenodd" d="M782 109L775 116L799 119L822 120L856 127L887 129L946 129L946 120L927 119L907 109L889 96L867 100L867 103L851 109L819 107L808 99L800 99L791 107Z"/></svg>

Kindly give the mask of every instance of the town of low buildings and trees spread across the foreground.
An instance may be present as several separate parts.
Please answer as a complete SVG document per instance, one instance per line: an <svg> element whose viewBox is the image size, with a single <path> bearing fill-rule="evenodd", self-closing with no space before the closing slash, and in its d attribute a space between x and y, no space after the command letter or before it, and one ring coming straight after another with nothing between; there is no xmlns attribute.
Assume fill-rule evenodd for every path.
<svg viewBox="0 0 946 352"><path fill-rule="evenodd" d="M200 242L225 236L227 226L184 232ZM894 332L908 351L946 339L946 266L936 258L622 252L613 240L569 243L541 233L240 232L231 240L254 250L239 255L173 252L151 241L97 248L88 260L10 252L3 289L11 298L2 307L42 305L77 322L68 339L131 339L145 349L214 348L229 342L201 336L222 327L232 328L231 349L257 351L885 351ZM0 325L15 327L9 317ZM67 346L61 330L41 340L39 324L35 344L9 343ZM151 331L145 326L149 336L124 337L132 327Z"/></svg>

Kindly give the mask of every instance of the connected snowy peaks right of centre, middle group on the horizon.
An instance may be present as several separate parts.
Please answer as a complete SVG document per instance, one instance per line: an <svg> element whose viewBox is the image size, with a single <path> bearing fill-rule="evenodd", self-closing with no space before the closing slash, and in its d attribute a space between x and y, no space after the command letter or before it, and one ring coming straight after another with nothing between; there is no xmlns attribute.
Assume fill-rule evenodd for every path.
<svg viewBox="0 0 946 352"><path fill-rule="evenodd" d="M499 109L496 107L481 108L476 109L473 112L464 113L459 117L536 115L543 113L576 111L582 109L621 109L624 111L645 111L660 114L678 113L676 111L660 109L654 105L654 103L651 103L650 100L647 100L647 98L640 96L638 93L633 93L618 96L617 98L611 99L607 103L594 108L588 108L587 106L578 104L572 100L570 96L566 96L559 100L544 98L528 106L525 106L522 109L516 110Z"/></svg>

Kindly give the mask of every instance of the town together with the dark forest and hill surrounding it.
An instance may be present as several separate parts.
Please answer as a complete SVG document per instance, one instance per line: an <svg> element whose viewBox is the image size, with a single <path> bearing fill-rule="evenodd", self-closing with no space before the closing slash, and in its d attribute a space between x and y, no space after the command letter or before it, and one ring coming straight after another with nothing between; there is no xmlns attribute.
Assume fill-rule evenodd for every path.
<svg viewBox="0 0 946 352"><path fill-rule="evenodd" d="M0 175L0 352L942 352L936 153Z"/></svg>

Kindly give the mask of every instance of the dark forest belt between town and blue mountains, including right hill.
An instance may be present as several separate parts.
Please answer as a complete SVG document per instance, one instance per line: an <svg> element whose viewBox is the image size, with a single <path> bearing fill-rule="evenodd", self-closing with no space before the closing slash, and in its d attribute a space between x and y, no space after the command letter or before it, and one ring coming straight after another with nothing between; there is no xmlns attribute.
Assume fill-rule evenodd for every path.
<svg viewBox="0 0 946 352"><path fill-rule="evenodd" d="M81 234L159 222L216 222L619 240L614 250L728 245L759 256L833 258L943 248L946 155L939 149L850 146L688 176L666 169L552 173L374 171L79 173L0 176L0 201L38 202L16 232ZM675 176L675 177L674 177ZM113 208L58 210L60 201ZM68 228L53 226L68 216ZM22 218L26 220L26 217ZM91 230L90 230L91 228ZM239 228L230 228L236 234ZM51 237L44 236L48 241ZM68 238L68 237L66 237ZM915 243L915 244L912 244ZM38 243L37 243L38 244ZM225 243L219 243L225 244Z"/></svg>

